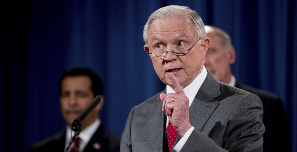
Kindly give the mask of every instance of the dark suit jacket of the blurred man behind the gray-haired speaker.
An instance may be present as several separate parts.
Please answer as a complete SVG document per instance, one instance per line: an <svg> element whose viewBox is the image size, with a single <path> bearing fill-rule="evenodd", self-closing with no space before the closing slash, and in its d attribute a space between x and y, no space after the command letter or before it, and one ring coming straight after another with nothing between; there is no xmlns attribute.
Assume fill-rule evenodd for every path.
<svg viewBox="0 0 297 152"><path fill-rule="evenodd" d="M235 87L256 94L263 104L264 152L290 151L289 123L282 100L275 94L236 81Z"/></svg>

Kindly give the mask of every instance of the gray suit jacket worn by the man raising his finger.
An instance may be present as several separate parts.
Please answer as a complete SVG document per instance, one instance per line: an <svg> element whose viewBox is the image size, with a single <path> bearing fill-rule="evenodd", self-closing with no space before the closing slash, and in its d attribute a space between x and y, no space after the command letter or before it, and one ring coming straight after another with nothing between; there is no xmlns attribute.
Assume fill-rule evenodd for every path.
<svg viewBox="0 0 297 152"><path fill-rule="evenodd" d="M168 149L166 116L159 98L162 92L133 107L121 137L120 151ZM259 97L217 81L208 71L189 107L190 123L195 129L181 151L263 151L262 115ZM178 134L175 144L180 139Z"/></svg>

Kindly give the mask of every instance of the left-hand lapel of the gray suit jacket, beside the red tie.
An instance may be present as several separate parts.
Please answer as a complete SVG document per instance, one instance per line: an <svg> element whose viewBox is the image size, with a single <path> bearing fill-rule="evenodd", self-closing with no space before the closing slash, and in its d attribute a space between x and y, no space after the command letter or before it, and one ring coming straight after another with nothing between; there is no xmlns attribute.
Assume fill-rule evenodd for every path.
<svg viewBox="0 0 297 152"><path fill-rule="evenodd" d="M165 93L165 90L163 91ZM155 103L148 108L148 131L149 131L149 141L154 147L152 150L163 149L165 141L165 125L166 117L165 112L162 111L162 102L159 96L156 96ZM165 122L165 124L164 124ZM160 138L163 137L163 138Z"/></svg>

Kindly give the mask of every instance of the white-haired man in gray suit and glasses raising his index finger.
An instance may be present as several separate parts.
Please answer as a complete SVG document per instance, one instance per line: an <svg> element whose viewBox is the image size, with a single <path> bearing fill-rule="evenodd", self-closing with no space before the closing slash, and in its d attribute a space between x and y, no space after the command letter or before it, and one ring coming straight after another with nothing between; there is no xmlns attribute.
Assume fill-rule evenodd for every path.
<svg viewBox="0 0 297 152"><path fill-rule="evenodd" d="M262 151L263 106L255 94L203 66L210 39L200 16L166 6L143 29L144 50L166 89L133 107L120 151Z"/></svg>

